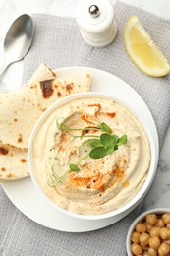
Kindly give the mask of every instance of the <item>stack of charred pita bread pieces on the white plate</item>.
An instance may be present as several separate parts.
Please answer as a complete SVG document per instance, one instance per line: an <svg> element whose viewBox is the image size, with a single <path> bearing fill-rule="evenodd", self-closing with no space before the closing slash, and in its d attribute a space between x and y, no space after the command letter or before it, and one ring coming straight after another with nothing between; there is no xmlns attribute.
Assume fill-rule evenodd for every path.
<svg viewBox="0 0 170 256"><path fill-rule="evenodd" d="M47 79L46 79L47 78ZM90 76L57 78L41 64L29 84L15 91L0 94L0 180L28 176L27 150L31 130L52 103L63 96L89 90ZM3 154L5 149L7 154Z"/></svg>

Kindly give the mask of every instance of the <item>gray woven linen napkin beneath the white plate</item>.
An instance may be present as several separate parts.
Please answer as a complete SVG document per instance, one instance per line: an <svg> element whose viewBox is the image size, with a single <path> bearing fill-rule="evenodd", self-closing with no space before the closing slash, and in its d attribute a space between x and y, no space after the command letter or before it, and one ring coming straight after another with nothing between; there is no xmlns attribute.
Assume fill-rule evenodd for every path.
<svg viewBox="0 0 170 256"><path fill-rule="evenodd" d="M23 83L27 83L42 62L51 68L88 66L106 70L129 83L142 96L153 115L162 146L170 119L170 76L151 78L142 74L125 52L123 28L132 15L137 15L170 61L170 22L121 2L116 3L115 14L118 34L114 43L104 48L85 44L73 18L32 15L35 35L25 58ZM138 207L116 224L78 234L33 223L13 206L2 188L0 203L0 255L4 256L126 255L127 230L140 212Z"/></svg>

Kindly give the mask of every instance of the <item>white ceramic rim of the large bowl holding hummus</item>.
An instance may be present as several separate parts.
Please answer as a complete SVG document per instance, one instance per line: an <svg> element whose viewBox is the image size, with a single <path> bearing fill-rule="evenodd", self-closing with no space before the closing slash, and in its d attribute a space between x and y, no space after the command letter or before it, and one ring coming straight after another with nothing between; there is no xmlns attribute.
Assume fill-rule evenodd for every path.
<svg viewBox="0 0 170 256"><path fill-rule="evenodd" d="M79 214L75 214L72 212L69 212L67 210L63 210L61 208L59 208L52 200L50 200L47 195L42 191L42 189L40 188L36 177L34 175L34 171L33 171L33 164L32 164L32 147L33 147L33 141L34 138L36 136L36 133L38 131L38 129L40 128L40 126L42 125L42 123L44 122L44 120L48 117L48 115L55 109L57 109L58 107L72 101L75 99L79 99L79 98L93 98L93 97L100 97L100 98L104 98L104 99L112 99L112 100L116 100L120 103L122 103L123 105L126 106L126 104L123 102L123 100L117 99L113 96L109 96L103 93L95 93L95 92L88 92L88 93L80 93L80 94L76 94L76 95L72 95L72 96L66 96L60 100L58 100L57 102L55 102L53 105L51 105L42 115L41 117L38 119L38 121L36 122L32 133L30 135L30 139L29 139L29 143L28 143L28 167L29 167L29 171L30 171L30 176L32 179L32 182L34 184L34 186L36 187L36 189L38 190L38 192L44 197L45 200L47 200L51 205L53 205L53 207L55 207L57 210L61 211L64 214L67 214L69 216L75 217L75 218L79 218L79 219L84 219L84 220L103 220L106 218L112 218L113 219L113 223L121 220L123 217L125 217L126 215L128 215L133 209L135 209L135 207L137 205L140 204L140 202L142 201L142 198L144 197L144 195L146 194L146 192L148 191L152 180L154 178L155 175L155 171L156 171L156 167L157 167L157 160L158 160L158 149L155 147L155 141L152 137L152 134L150 132L149 127L146 124L146 120L143 120L142 116L139 115L138 112L136 112L136 109L131 109L129 106L128 108L138 117L138 119L141 121L142 123L142 127L144 128L149 143L150 143L150 150L151 150L151 162L150 162L150 167L148 170L148 174L146 177L146 180L144 182L144 184L142 185L141 190L135 195L135 197L128 202L125 206L123 206L122 208L119 208L115 211L109 212L109 213L105 213L105 214L100 214L100 215L79 215Z"/></svg>

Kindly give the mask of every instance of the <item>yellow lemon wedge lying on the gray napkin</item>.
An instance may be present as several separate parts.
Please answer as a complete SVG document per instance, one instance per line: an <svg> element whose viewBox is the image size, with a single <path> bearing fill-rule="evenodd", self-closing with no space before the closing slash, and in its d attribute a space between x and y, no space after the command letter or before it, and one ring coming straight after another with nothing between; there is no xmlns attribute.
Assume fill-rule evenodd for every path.
<svg viewBox="0 0 170 256"><path fill-rule="evenodd" d="M124 43L129 57L144 74L162 77L170 72L166 58L136 16L132 16L125 26Z"/></svg>

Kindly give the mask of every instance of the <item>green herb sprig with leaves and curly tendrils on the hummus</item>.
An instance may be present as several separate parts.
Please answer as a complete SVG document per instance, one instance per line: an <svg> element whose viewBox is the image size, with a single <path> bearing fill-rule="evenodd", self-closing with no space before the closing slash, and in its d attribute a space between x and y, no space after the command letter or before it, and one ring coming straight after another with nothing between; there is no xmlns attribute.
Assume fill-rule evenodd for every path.
<svg viewBox="0 0 170 256"><path fill-rule="evenodd" d="M54 168L52 166L52 173L49 179L48 184L53 187L57 187L65 178L65 176L73 171L73 172L79 172L79 164L82 160L84 160L87 157L90 157L91 159L101 159L106 157L107 155L111 155L114 151L118 150L118 147L121 145L124 145L127 143L127 135L124 134L121 137L118 137L117 135L111 134L112 130L111 128L104 122L98 124L95 127L85 127L85 128L73 128L68 125L66 125L64 122L59 123L57 122L57 126L61 131L67 131L70 134L70 131L88 131L88 130L100 130L101 133L99 135L72 135L70 134L74 139L82 139L84 137L92 137L92 139L85 140L82 143L81 147L84 147L86 144L88 147L87 154L85 156L80 156L80 159L78 160L77 163L70 163L68 166L68 170L62 175L58 176ZM97 137L97 139L95 139Z"/></svg>

